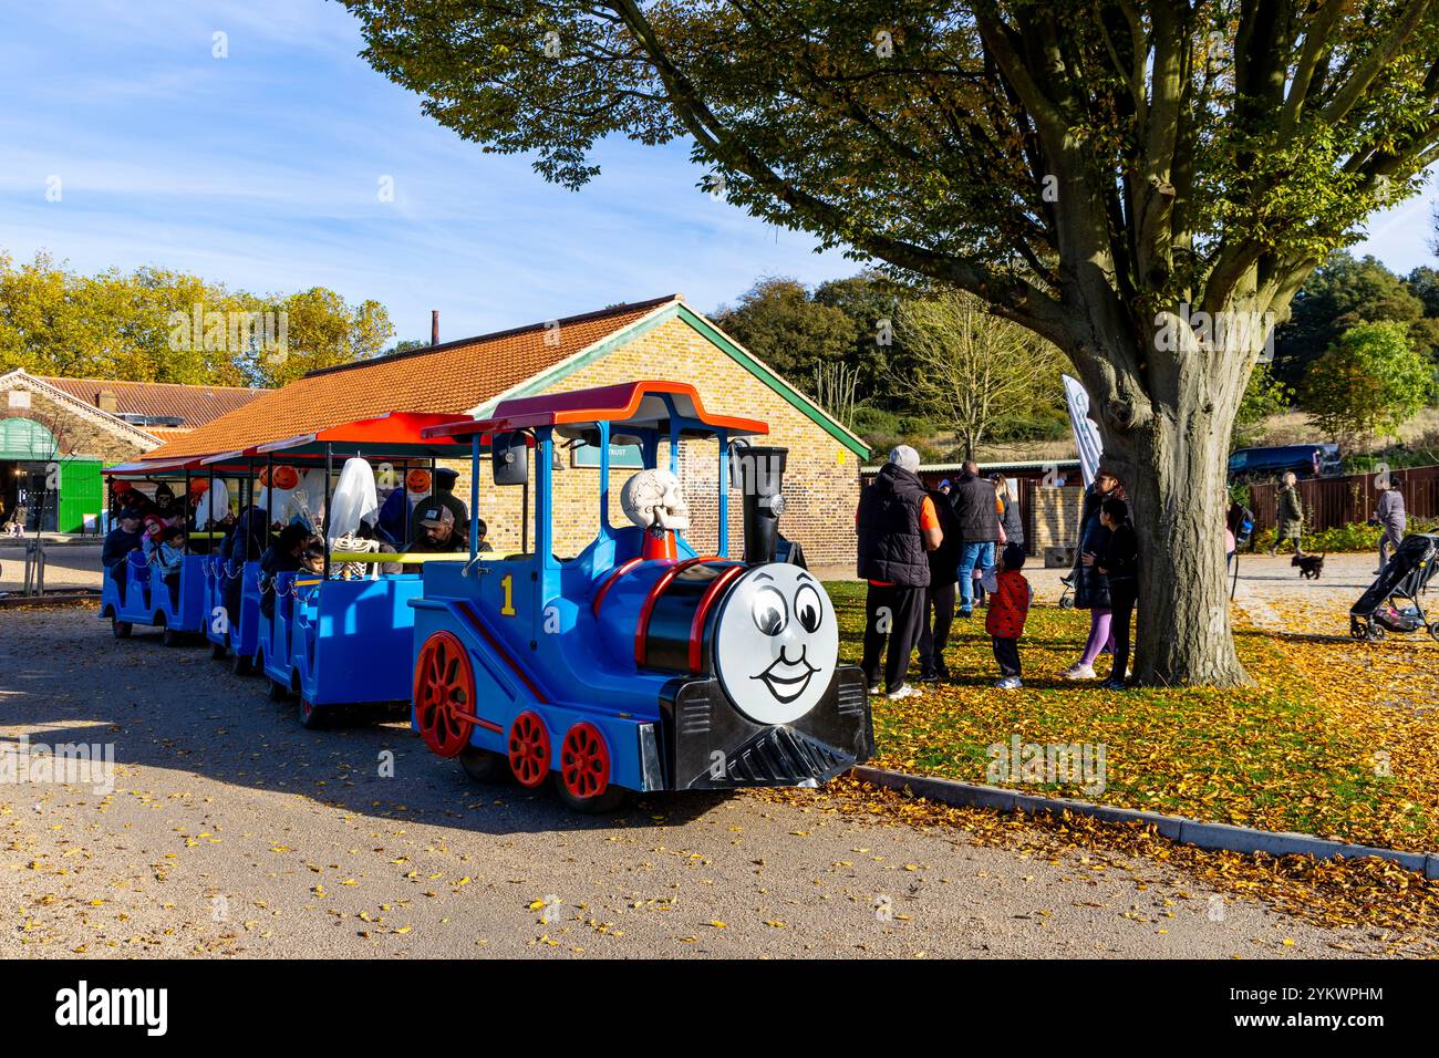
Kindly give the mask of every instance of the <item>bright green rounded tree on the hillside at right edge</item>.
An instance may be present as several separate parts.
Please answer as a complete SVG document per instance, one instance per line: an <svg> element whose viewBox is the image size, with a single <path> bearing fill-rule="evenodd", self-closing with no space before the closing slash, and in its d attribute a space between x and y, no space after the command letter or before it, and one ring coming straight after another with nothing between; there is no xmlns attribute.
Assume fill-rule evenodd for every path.
<svg viewBox="0 0 1439 1058"><path fill-rule="evenodd" d="M1302 406L1328 438L1367 442L1403 426L1433 390L1433 364L1404 324L1383 320L1356 324L1315 361Z"/></svg>

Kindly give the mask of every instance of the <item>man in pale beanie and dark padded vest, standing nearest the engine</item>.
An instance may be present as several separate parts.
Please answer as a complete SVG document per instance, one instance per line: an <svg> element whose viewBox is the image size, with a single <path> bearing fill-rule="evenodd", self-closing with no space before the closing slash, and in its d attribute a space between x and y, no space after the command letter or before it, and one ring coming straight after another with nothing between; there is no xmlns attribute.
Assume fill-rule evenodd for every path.
<svg viewBox="0 0 1439 1058"><path fill-rule="evenodd" d="M865 600L865 656L861 662L871 694L879 692L879 655L885 651L888 698L920 694L905 682L909 655L924 626L928 553L940 547L940 518L915 471L920 453L899 445L875 482L859 494L859 576L869 582Z"/></svg>

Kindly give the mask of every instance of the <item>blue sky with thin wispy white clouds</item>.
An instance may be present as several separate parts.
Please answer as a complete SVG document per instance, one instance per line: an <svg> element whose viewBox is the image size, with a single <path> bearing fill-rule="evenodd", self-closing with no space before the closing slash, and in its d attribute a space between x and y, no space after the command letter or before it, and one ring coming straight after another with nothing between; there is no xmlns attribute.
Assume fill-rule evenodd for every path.
<svg viewBox="0 0 1439 1058"><path fill-rule="evenodd" d="M682 144L610 143L586 190L553 187L426 118L360 48L327 0L0 0L0 249L318 284L378 299L410 338L432 308L458 338L675 291L708 311L760 275L858 269L714 202ZM1435 202L1430 181L1357 252L1439 265Z"/></svg>

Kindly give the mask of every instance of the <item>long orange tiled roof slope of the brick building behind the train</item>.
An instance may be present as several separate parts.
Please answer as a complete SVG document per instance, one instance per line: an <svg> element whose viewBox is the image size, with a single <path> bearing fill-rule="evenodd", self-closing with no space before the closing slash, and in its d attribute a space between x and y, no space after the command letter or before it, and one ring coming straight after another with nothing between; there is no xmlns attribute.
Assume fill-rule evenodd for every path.
<svg viewBox="0 0 1439 1058"><path fill-rule="evenodd" d="M386 412L459 415L629 327L675 297L312 371L168 440L147 459L235 452Z"/></svg>

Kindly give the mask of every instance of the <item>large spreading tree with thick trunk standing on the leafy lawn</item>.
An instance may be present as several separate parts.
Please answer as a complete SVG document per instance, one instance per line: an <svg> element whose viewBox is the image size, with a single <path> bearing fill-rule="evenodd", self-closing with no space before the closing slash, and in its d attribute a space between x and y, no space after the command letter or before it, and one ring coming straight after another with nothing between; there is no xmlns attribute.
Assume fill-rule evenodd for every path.
<svg viewBox="0 0 1439 1058"><path fill-rule="evenodd" d="M1138 675L1245 678L1212 541L1268 328L1235 324L1439 158L1439 0L344 3L486 150L580 187L606 137L688 137L753 216L1052 341L1134 499Z"/></svg>

